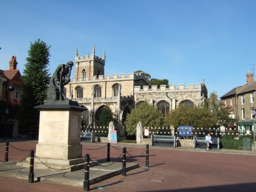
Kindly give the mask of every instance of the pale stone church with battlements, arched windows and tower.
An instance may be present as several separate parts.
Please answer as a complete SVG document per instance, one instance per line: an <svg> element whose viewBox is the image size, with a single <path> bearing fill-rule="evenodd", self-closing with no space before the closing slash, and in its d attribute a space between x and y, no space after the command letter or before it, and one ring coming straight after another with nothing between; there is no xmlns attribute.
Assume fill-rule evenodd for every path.
<svg viewBox="0 0 256 192"><path fill-rule="evenodd" d="M163 115L175 110L179 105L199 105L207 97L207 89L203 83L179 84L176 87L170 84L151 86L150 81L143 73L129 73L128 75L105 75L105 50L103 57L95 55L95 46L92 54L78 56L75 53L75 77L65 86L68 98L75 100L79 105L86 107L83 112L84 125L97 125L102 109L109 106L118 121L125 120L127 113L136 108L141 102L147 101L160 110ZM121 131L121 130L119 130ZM120 132L121 133L121 132Z"/></svg>

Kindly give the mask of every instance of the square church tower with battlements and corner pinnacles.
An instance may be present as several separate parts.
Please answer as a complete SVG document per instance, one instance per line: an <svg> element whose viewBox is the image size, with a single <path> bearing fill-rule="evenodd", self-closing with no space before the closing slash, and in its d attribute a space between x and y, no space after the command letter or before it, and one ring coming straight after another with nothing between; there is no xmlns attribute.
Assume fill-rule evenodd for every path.
<svg viewBox="0 0 256 192"><path fill-rule="evenodd" d="M89 55L89 53L86 56L78 57L78 51L76 48L75 53L75 62L76 62L76 68L75 68L75 79L79 80L85 79L88 77L89 79L92 79L93 76L96 76L96 78L99 77L99 75L104 76L104 66L105 66L105 50L103 51L103 58L100 58L95 55L95 46L93 45L92 54Z"/></svg>

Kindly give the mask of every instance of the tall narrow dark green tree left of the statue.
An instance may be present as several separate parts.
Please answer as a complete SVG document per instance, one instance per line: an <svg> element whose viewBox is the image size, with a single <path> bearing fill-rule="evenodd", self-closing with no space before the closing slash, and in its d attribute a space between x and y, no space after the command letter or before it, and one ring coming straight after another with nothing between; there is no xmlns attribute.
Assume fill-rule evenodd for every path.
<svg viewBox="0 0 256 192"><path fill-rule="evenodd" d="M34 106L44 103L49 80L50 47L44 41L37 39L30 42L27 63L25 64L23 91L19 119L19 133L27 134L29 129L38 130L39 112Z"/></svg>

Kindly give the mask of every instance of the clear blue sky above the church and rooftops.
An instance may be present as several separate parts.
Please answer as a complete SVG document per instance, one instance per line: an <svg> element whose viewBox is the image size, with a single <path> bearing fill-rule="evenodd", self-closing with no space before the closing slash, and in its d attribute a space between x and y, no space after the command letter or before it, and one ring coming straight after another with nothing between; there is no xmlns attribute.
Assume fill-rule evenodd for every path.
<svg viewBox="0 0 256 192"><path fill-rule="evenodd" d="M95 45L105 75L142 70L221 97L256 69L255 10L254 0L1 0L0 69L16 55L23 74L38 38L51 46L51 74Z"/></svg>

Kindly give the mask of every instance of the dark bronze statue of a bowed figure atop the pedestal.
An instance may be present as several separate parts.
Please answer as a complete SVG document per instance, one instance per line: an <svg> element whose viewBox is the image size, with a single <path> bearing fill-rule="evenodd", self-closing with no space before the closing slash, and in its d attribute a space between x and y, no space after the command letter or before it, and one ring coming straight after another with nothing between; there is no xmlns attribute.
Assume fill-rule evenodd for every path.
<svg viewBox="0 0 256 192"><path fill-rule="evenodd" d="M47 101L66 100L64 86L70 82L70 74L74 63L60 64L52 75L47 93Z"/></svg>

